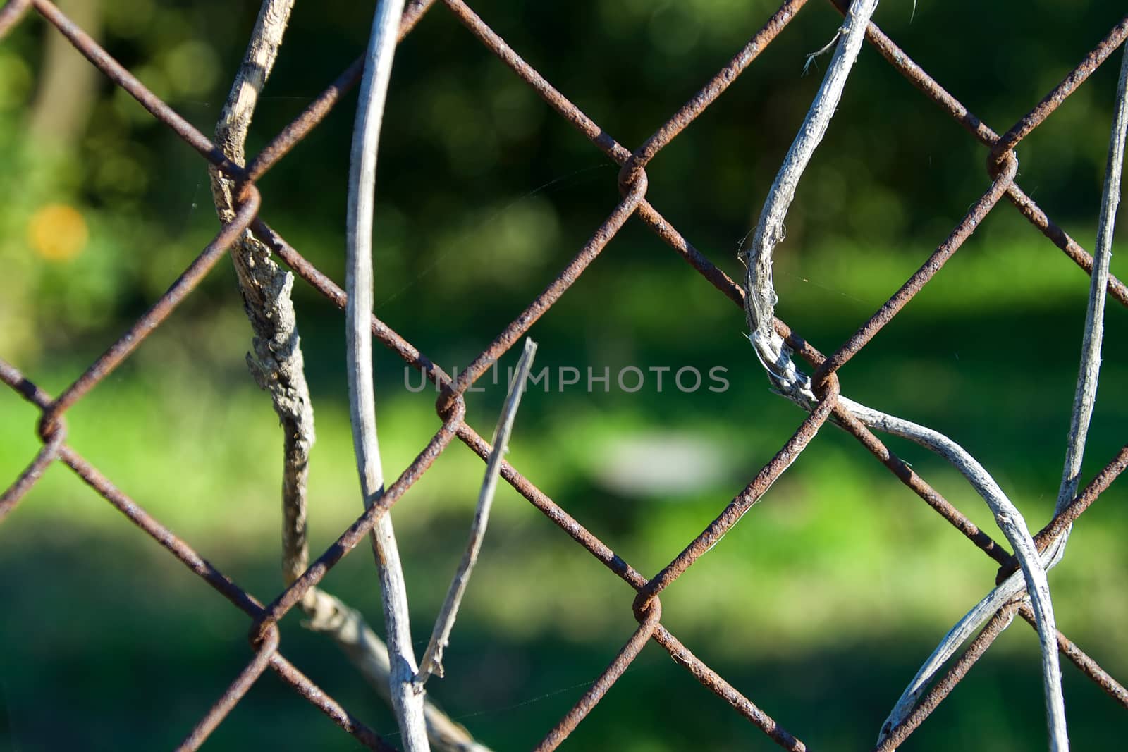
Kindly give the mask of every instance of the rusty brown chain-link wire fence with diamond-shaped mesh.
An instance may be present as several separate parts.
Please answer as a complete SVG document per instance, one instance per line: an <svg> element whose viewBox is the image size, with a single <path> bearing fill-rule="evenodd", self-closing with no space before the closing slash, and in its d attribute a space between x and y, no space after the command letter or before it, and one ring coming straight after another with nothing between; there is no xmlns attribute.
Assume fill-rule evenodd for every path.
<svg viewBox="0 0 1128 752"><path fill-rule="evenodd" d="M432 5L434 5L433 0L415 0L408 3L400 27L400 38L412 30L413 26L423 14L431 9ZM555 89L552 83L545 80L536 69L526 63L518 52L511 48L505 39L495 34L462 0L444 0L440 5L444 5L447 11L453 14L470 34L477 37L515 76L531 87L561 117L579 130L597 149L622 167L618 174L618 187L622 201L614 206L606 221L596 228L587 245L579 250L556 278L534 298L529 306L509 326L496 335L490 346L478 354L474 362L462 373L458 374L457 379L452 379L409 342L373 316L373 335L393 353L403 359L405 363L420 370L432 383L440 388L437 410L441 424L428 444L420 451L416 459L402 471L395 483L388 486L382 499L356 519L314 561L305 574L291 586L279 593L270 603L257 601L246 590L204 560L188 542L173 534L160 521L146 512L141 504L118 490L111 479L102 475L97 468L92 467L68 445L65 413L90 393L92 389L97 388L116 366L130 357L140 343L156 330L169 313L213 269L229 246L248 229L267 244L298 276L338 308L344 307L345 298L342 289L308 263L263 218L257 215L259 196L255 187L255 180L262 177L283 156L299 144L337 104L342 94L355 85L361 74L361 64L358 61L345 70L298 118L279 133L244 168L227 160L208 138L149 91L144 85L102 50L90 36L63 16L49 0L11 0L0 10L0 37L10 30L14 25L18 24L26 11L34 9L50 21L59 33L63 34L94 65L112 79L115 85L135 97L156 118L176 132L188 145L199 151L204 159L245 186L244 201L238 207L235 221L223 225L212 242L192 262L168 291L117 342L111 345L85 373L79 375L71 386L64 389L61 395L51 396L46 393L16 368L5 361L0 361L0 379L42 412L42 418L38 421L35 430L43 443L38 453L30 459L27 469L3 492L3 496L0 497L0 520L10 513L20 498L37 483L49 465L60 461L73 470L79 478L127 516L138 528L157 540L165 549L188 567L188 569L208 582L250 619L253 658L227 691L217 700L214 706L196 724L186 742L187 747L195 747L203 743L208 735L239 702L250 685L270 669L365 746L370 749L390 749L387 742L381 740L374 731L350 714L336 700L302 674L298 667L283 657L279 649L280 630L277 621L299 602L302 594L317 585L331 568L362 541L363 537L371 531L378 515L395 505L423 474L428 471L439 454L456 439L483 459L487 458L491 451L487 442L464 421L464 392L481 379L492 364L509 351L529 330L532 324L567 292L576 277L594 260L628 218L637 216L641 219L646 227L712 283L717 291L729 297L738 307L742 307L744 291L740 285L734 283L724 272L703 256L647 201L645 168L655 154L668 145L684 129L693 124L695 118L724 92L732 81L756 60L773 39L784 32L787 24L807 5L807 1L787 0L784 2L748 44L735 53L728 65L707 81L700 91L686 103L681 109L675 113L667 122L662 123L645 143L633 151L618 143L596 122L573 105L563 92ZM835 6L839 11L845 10L843 0L837 0ZM1047 94L1029 114L1007 129L1002 135L982 123L960 104L959 100L945 91L937 81L932 79L928 73L905 54L875 25L870 24L866 38L897 72L932 100L944 114L957 121L973 139L988 148L987 172L990 179L990 187L973 205L967 216L955 225L951 235L940 244L933 255L924 262L920 269L871 319L862 322L857 333L829 357L819 353L802 339L799 334L792 331L786 324L776 321L778 333L785 337L796 353L807 360L812 368L817 369L817 382L820 377L832 377L839 368L857 354L927 284L932 275L938 271L944 262L971 235L975 227L1004 198L1026 218L1051 244L1073 259L1073 262L1086 272L1092 272L1092 256L1060 227L1055 224L1038 204L1023 192L1015 182L1014 169L1007 169L1007 165L1011 161L1014 148L1034 129L1041 125L1128 38L1128 17L1116 25L1092 52L1057 87ZM1108 291L1119 303L1128 306L1128 289L1126 289L1122 282L1116 277L1110 278ZM890 452L865 426L837 405L835 399L837 387L835 386L836 381L834 378L829 378L826 383L831 386L826 393L826 399L820 402L818 409L802 421L794 435L763 467L751 483L729 503L724 511L700 534L693 538L681 554L652 577L644 576L617 556L611 547L589 532L567 511L556 505L552 498L545 495L531 480L521 475L517 468L509 463L503 465L502 477L514 489L558 525L579 546L587 549L591 556L596 557L611 573L620 577L637 592L637 598L633 604L634 613L638 621L637 630L631 636L619 654L611 661L606 672L575 707L559 720L555 728L548 732L543 743L544 749L552 749L563 741L591 708L600 701L606 692L614 691L616 680L651 639L661 645L698 682L714 692L717 698L729 704L735 713L751 722L779 746L787 750L805 749L803 742L795 734L779 726L752 699L744 697L738 689L725 681L724 678L698 660L688 647L679 642L662 625L659 595L740 519L743 512L764 494L794 461L799 453L803 451L813 439L816 431L831 415L836 416L844 427L901 483L911 488L926 504L938 512L987 556L997 561L1001 577L1015 569L1016 565L1012 555L1003 546L993 540L987 532L977 528L907 463ZM1039 547L1045 550L1048 542L1068 524L1074 522L1126 467L1128 467L1128 445L1108 462L1061 514L1038 533L1036 540ZM952 688L967 674L970 666L984 655L987 647L1010 622L1010 618L1015 612L1022 616L1028 622L1033 622L1033 614L1030 612L1029 607L1020 607L1019 603L1012 603L1001 610L960 655L946 675L936 682L927 695L924 696L915 713L900 727L893 731L880 749L893 749L913 733L922 720L936 708ZM1120 705L1128 708L1128 690L1064 635L1058 635L1058 642L1061 653L1067 658ZM177 720L177 723L184 723L187 726L188 722L187 719L182 719Z"/></svg>

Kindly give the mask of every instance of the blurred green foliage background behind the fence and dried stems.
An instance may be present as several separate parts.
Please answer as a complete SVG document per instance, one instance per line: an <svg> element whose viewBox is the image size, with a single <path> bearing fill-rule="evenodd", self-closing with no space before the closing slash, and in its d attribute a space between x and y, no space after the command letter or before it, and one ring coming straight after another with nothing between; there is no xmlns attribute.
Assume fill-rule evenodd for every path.
<svg viewBox="0 0 1128 752"><path fill-rule="evenodd" d="M774 10L720 0L473 5L627 148ZM257 3L102 0L90 8L108 51L210 133ZM370 12L370 3L344 0L298 3L248 153L360 53ZM970 12L887 3L876 20L999 132L1119 20L1100 2L1001 2ZM819 85L818 72L802 76L805 56L839 18L811 3L647 168L650 201L734 278L740 240ZM52 59L50 34L28 19L0 44L0 356L58 392L175 280L217 220L203 160L123 91L91 78L85 115L69 126L53 116L59 98L44 91L44 70L52 60L64 70L87 67L65 47ZM1023 187L1087 248L1116 65L1098 70L1019 149ZM354 103L346 96L261 182L263 216L338 281ZM781 317L834 350L978 198L988 184L985 154L864 48L788 216L776 262ZM616 171L449 12L431 10L402 45L393 76L378 178L377 315L448 370L465 366L610 212ZM1128 273L1120 256L1113 272ZM280 587L281 442L267 398L245 371L249 328L233 280L221 264L76 406L70 441L220 569L270 599ZM1060 475L1086 294L1085 275L1002 205L844 369L844 391L955 437L1038 525ZM360 505L342 319L305 284L294 295L318 426L316 555ZM1128 317L1119 306L1108 317L1086 478L1122 444L1128 418ZM730 388L589 393L558 391L554 381L550 393L534 390L522 402L511 460L632 565L656 572L801 419L767 391L743 327L731 301L632 221L532 329L537 366L721 366ZM394 474L435 430L434 395L409 391L402 364L385 353L377 368L384 463ZM469 395L470 423L487 432L501 399L492 386ZM0 415L7 483L37 446L36 414L6 390ZM654 442L696 443L712 461L687 467L684 483L666 493L632 490L618 477L631 468L616 458ZM891 446L994 531L953 471L917 448ZM645 461L640 469L656 471ZM396 507L424 644L481 472L477 458L452 446ZM1063 630L1120 676L1128 673L1117 629L1128 620L1123 501L1113 486L1086 513L1051 576ZM62 467L6 521L0 541L0 600L17 614L0 626L9 646L0 652L0 745L169 746L247 657L245 619ZM872 743L920 660L993 576L986 557L828 427L763 505L663 594L663 620L813 749L853 750ZM327 587L379 620L367 552L346 558ZM448 653L449 678L432 692L495 749L527 749L629 635L629 596L502 488ZM381 731L394 727L344 660L297 621L288 618L284 653L352 711ZM905 749L1037 749L1036 655L1033 632L1015 626ZM1075 745L1114 746L1122 710L1072 667L1065 672ZM58 724L62 707L74 720L68 729ZM215 749L264 745L352 749L270 678L214 736ZM654 646L573 743L638 752L691 745L772 749Z"/></svg>

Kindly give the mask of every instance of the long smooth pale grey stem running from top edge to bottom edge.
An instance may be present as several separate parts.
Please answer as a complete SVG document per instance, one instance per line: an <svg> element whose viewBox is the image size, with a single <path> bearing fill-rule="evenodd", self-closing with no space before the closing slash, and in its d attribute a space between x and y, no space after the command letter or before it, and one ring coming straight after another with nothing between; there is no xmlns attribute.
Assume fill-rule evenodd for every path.
<svg viewBox="0 0 1128 752"><path fill-rule="evenodd" d="M376 158L384 105L391 77L403 0L380 0L372 19L361 79L356 123L349 166L349 218L345 238L345 306L349 410L353 450L365 507L384 493L384 470L376 434L376 400L372 382L372 212L376 194ZM407 587L399 563L399 549L388 514L380 515L372 530L372 547L380 576L384 617L388 629L391 663L391 706L408 752L429 750L423 714L423 691L414 683L415 655L412 649L407 611Z"/></svg>

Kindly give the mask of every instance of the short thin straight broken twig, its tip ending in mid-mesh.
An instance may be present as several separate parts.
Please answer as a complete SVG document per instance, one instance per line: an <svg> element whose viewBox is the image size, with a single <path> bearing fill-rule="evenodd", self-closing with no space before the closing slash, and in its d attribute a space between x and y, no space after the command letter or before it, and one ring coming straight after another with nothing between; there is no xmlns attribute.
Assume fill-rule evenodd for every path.
<svg viewBox="0 0 1128 752"><path fill-rule="evenodd" d="M494 430L493 450L486 462L486 474L482 479L482 488L478 490L478 504L474 510L474 522L470 524L470 537L462 554L462 560L455 572L455 577L447 591L447 600L443 601L442 609L434 621L434 630L431 632L431 642L426 646L423 660L420 661L420 673L416 682L422 685L431 675L443 675L442 652L450 644L450 631L455 628L455 619L458 616L458 607L462 602L466 586L470 582L470 573L474 564L478 560L478 551L482 550L482 541L486 534L486 525L490 522L490 507L493 505L494 493L497 489L497 477L501 475L501 463L509 451L509 434L513 428L513 418L517 417L517 408L521 405L521 395L525 392L525 382L532 368L532 359L537 354L537 343L526 338L525 352L517 364L517 372L509 383L509 393L505 396L505 404L502 406L501 416L497 418L497 427Z"/></svg>

